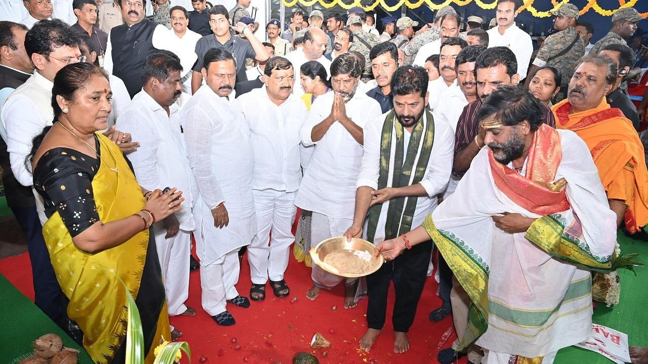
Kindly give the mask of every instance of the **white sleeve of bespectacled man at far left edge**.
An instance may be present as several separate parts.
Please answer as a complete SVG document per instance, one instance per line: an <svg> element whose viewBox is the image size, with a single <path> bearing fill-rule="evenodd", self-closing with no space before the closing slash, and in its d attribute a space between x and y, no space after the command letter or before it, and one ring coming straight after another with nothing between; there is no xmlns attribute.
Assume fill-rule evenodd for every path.
<svg viewBox="0 0 648 364"><path fill-rule="evenodd" d="M25 158L32 150L32 139L43 131L48 121L38 107L25 95L9 97L2 108L2 120L6 128L6 149L14 177L23 186L34 184L31 168L25 165Z"/></svg>

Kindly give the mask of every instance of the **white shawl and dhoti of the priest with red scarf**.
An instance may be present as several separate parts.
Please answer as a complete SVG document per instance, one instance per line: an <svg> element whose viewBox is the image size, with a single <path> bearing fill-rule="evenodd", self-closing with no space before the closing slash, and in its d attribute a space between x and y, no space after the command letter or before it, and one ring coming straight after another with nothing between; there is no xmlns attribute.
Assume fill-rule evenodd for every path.
<svg viewBox="0 0 648 364"><path fill-rule="evenodd" d="M586 144L572 131L558 133L562 161L555 179L567 180L570 209L553 216L562 220L565 233L579 240L581 249L605 260L614 250L616 216L608 207ZM590 336L590 272L553 258L529 242L525 233L509 234L495 227L491 216L503 212L540 216L496 187L488 152L489 148L483 148L473 159L454 194L434 211L432 220L489 271L489 326L477 345L491 353L551 356ZM526 173L526 161L521 173ZM488 363L507 363L496 360L496 355L488 356Z"/></svg>

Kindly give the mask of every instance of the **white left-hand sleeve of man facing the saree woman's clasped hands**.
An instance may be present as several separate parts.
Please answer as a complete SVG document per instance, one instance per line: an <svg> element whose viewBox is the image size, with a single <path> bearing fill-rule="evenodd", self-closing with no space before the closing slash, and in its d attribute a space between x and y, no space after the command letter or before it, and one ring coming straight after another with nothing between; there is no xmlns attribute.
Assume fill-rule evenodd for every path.
<svg viewBox="0 0 648 364"><path fill-rule="evenodd" d="M128 154L135 177L141 187L147 190L156 188L165 188L161 185L157 175L157 146L159 138L157 132L152 128L151 123L157 120L150 120L150 115L129 109L119 116L115 129L130 133L133 141L139 142L139 147L135 152ZM173 186L169 186L173 187Z"/></svg>

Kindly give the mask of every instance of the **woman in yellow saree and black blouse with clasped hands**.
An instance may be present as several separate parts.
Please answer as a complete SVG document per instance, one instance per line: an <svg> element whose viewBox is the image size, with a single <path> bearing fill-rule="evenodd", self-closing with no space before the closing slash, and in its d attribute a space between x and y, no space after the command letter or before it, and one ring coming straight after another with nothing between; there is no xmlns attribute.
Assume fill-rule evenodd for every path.
<svg viewBox="0 0 648 364"><path fill-rule="evenodd" d="M43 236L95 363L124 363L126 290L141 315L146 363L160 337L170 340L165 290L149 227L179 210L181 192L143 191L106 129L108 77L90 63L54 78L54 124L34 138L34 188L48 220ZM177 198L177 199L176 199Z"/></svg>

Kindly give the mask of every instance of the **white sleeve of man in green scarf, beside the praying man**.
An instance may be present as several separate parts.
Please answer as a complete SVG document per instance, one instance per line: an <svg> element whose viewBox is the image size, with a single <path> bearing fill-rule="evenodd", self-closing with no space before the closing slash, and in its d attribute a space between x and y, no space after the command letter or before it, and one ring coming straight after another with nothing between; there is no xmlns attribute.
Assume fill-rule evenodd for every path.
<svg viewBox="0 0 648 364"><path fill-rule="evenodd" d="M367 186L373 189L378 188L378 174L380 173L380 136L382 132L382 120L375 119L367 122L364 127L364 153L362 154L362 166L358 174L356 187Z"/></svg>

